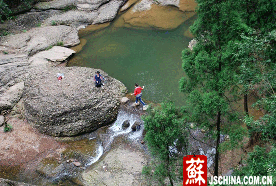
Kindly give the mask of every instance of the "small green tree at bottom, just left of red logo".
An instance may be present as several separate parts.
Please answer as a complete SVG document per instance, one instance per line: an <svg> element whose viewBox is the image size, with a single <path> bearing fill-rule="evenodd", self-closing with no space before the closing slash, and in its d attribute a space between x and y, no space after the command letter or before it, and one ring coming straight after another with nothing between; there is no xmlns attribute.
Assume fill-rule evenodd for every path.
<svg viewBox="0 0 276 186"><path fill-rule="evenodd" d="M169 178L170 184L173 185L174 180L182 179L179 169L182 168L182 158L188 151L185 117L169 99L158 107L150 107L147 112L148 115L143 117L147 131L145 140L155 159L149 166L143 167L142 173L149 185L154 180L163 185L166 178Z"/></svg>

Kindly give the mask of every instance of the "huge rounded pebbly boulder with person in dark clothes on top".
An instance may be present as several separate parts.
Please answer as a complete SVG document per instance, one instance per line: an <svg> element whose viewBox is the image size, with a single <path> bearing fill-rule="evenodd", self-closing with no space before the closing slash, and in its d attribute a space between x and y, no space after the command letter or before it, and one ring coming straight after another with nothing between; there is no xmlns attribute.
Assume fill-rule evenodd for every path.
<svg viewBox="0 0 276 186"><path fill-rule="evenodd" d="M31 71L23 93L28 122L48 135L75 136L114 121L127 88L101 70L107 82L104 88L95 87L97 70L47 67ZM58 81L57 73L64 73L64 79Z"/></svg>

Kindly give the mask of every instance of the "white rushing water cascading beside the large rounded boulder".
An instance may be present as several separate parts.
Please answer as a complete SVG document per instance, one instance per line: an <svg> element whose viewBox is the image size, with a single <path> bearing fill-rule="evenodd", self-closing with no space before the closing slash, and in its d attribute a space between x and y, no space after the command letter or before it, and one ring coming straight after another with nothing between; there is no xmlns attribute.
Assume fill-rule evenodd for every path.
<svg viewBox="0 0 276 186"><path fill-rule="evenodd" d="M122 124L126 120L129 121L130 126L126 129L123 129ZM95 157L91 156L90 161L86 163L86 166L89 166L97 162L100 159L100 157L103 155L103 153L107 149L109 149L108 147L111 146L116 136L127 135L131 140L138 140L139 137L142 135L144 126L141 125L139 130L133 131L131 127L137 120L140 120L139 116L136 116L134 114L129 114L129 113L126 113L125 111L120 110L118 113L117 120L108 128L107 132L104 134L106 135L106 137L109 136L109 138L106 139L105 137L103 137L103 139L106 141L104 142L98 141L99 146L96 150L96 156ZM89 140L94 140L94 139L96 138L95 137L89 138Z"/></svg>

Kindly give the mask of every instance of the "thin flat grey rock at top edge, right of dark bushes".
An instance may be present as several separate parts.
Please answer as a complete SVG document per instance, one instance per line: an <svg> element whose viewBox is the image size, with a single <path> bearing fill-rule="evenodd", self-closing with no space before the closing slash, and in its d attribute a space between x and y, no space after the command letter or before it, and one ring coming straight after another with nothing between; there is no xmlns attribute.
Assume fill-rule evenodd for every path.
<svg viewBox="0 0 276 186"><path fill-rule="evenodd" d="M53 0L49 2L38 2L34 8L40 10L47 10L47 9L65 9L67 7L76 7L77 0Z"/></svg>

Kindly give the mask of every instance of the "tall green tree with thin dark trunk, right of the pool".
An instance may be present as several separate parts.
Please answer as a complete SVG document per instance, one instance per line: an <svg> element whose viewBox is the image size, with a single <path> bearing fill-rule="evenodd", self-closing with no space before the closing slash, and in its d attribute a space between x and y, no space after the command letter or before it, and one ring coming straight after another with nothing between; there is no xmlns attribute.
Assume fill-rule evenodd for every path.
<svg viewBox="0 0 276 186"><path fill-rule="evenodd" d="M193 51L182 52L183 69L187 77L180 80L180 90L187 94L185 108L190 120L216 140L214 175L218 176L220 135L237 121L231 110L236 100L238 67L232 60L230 42L239 39L239 32L247 28L242 24L234 2L228 0L198 0L198 19L190 27L197 44ZM231 136L230 136L231 138Z"/></svg>

